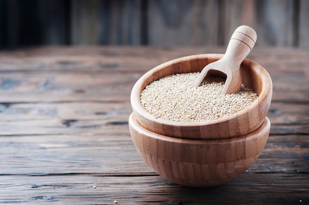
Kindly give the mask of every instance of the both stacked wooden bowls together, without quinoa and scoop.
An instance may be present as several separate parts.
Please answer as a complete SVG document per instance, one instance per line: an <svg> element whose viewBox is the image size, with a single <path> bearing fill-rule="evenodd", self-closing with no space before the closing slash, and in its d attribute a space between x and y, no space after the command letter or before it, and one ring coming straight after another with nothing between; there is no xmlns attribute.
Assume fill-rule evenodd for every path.
<svg viewBox="0 0 309 205"><path fill-rule="evenodd" d="M246 171L262 152L270 132L266 117L272 96L268 72L245 59L242 83L258 99L228 117L204 122L176 122L155 117L141 104L147 85L176 73L200 72L223 54L200 54L161 64L144 74L131 93L130 134L144 161L159 175L185 186L223 184Z"/></svg>

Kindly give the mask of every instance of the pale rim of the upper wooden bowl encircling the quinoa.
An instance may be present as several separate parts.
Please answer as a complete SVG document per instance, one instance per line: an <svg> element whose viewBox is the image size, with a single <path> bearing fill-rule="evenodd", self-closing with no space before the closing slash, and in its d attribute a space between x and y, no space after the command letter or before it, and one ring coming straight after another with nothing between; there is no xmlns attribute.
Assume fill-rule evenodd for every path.
<svg viewBox="0 0 309 205"><path fill-rule="evenodd" d="M269 93L272 94L271 93L272 92L272 81L271 81L271 78L270 78L270 74L267 72L267 70L254 61L251 61L249 59L244 59L242 64L249 64L251 67L257 66L259 68L258 70L256 70L258 73L261 74L262 70L263 70L264 73L266 73L266 78L262 79L263 82L266 82L266 83L263 83L263 87L262 87L260 95L258 96L258 99L256 99L249 106L245 107L244 109L242 109L242 110L240 110L236 113L233 113L233 114L226 116L226 117L214 119L214 120L182 122L182 121L173 121L173 120L167 120L167 119L163 119L163 118L160 118L160 117L156 117L143 107L141 100L140 100L140 95L141 95L142 90L146 86L143 89L140 89L140 88L143 86L144 79L151 77L151 75L155 71L158 71L158 70L163 69L167 66L171 66L173 64L180 63L180 62L183 62L183 61L188 61L188 60L190 61L190 60L198 59L198 58L216 58L216 59L219 60L223 56L224 56L224 54L219 54L219 53L196 54L196 55L184 56L184 57L180 57L180 58L173 59L173 60L167 61L165 63L162 63L162 64L152 68L151 70L147 71L144 75L142 75L137 80L137 82L134 84L134 86L132 88L130 100L131 100L131 106L132 106L133 112L143 116L145 119L154 121L154 122L159 123L159 124L168 125L168 126L177 126L177 127L206 126L206 125L219 124L223 121L230 121L230 120L236 118L239 115L243 115L243 114L247 113L248 111L255 109L261 102L263 102L268 97ZM141 90L141 92L139 92L139 90ZM262 93L264 95L262 95Z"/></svg>

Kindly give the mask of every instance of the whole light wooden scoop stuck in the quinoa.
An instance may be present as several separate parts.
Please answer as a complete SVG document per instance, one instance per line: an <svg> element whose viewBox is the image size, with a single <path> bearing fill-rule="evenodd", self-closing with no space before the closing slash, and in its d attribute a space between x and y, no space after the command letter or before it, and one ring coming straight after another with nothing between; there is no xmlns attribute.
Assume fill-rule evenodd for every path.
<svg viewBox="0 0 309 205"><path fill-rule="evenodd" d="M238 27L230 39L228 48L222 59L208 64L199 74L194 88L197 88L209 75L210 70L221 71L227 75L223 94L237 93L241 90L240 64L250 53L257 39L256 32L248 26Z"/></svg>

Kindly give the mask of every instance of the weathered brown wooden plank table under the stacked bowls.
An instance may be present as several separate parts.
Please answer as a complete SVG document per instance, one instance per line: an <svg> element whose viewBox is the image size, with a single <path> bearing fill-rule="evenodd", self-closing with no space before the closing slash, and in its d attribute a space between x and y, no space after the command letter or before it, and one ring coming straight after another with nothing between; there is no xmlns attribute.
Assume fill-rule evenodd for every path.
<svg viewBox="0 0 309 205"><path fill-rule="evenodd" d="M37 47L0 52L0 203L309 204L309 52L259 48L273 81L271 131L233 181L188 188L158 176L128 130L142 74L218 47Z"/></svg>

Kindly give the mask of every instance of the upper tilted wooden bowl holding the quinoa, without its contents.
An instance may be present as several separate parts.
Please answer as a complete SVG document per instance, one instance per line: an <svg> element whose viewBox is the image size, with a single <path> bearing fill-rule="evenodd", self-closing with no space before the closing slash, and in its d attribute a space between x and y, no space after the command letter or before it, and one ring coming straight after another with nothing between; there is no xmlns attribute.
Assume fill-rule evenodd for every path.
<svg viewBox="0 0 309 205"><path fill-rule="evenodd" d="M268 113L272 96L269 73L257 63L245 59L240 68L242 83L258 94L258 99L230 116L204 122L176 122L155 117L141 104L140 95L147 85L176 73L200 72L223 54L199 54L163 63L145 73L131 93L133 112L141 126L154 133L187 139L225 139L243 136L257 130Z"/></svg>

